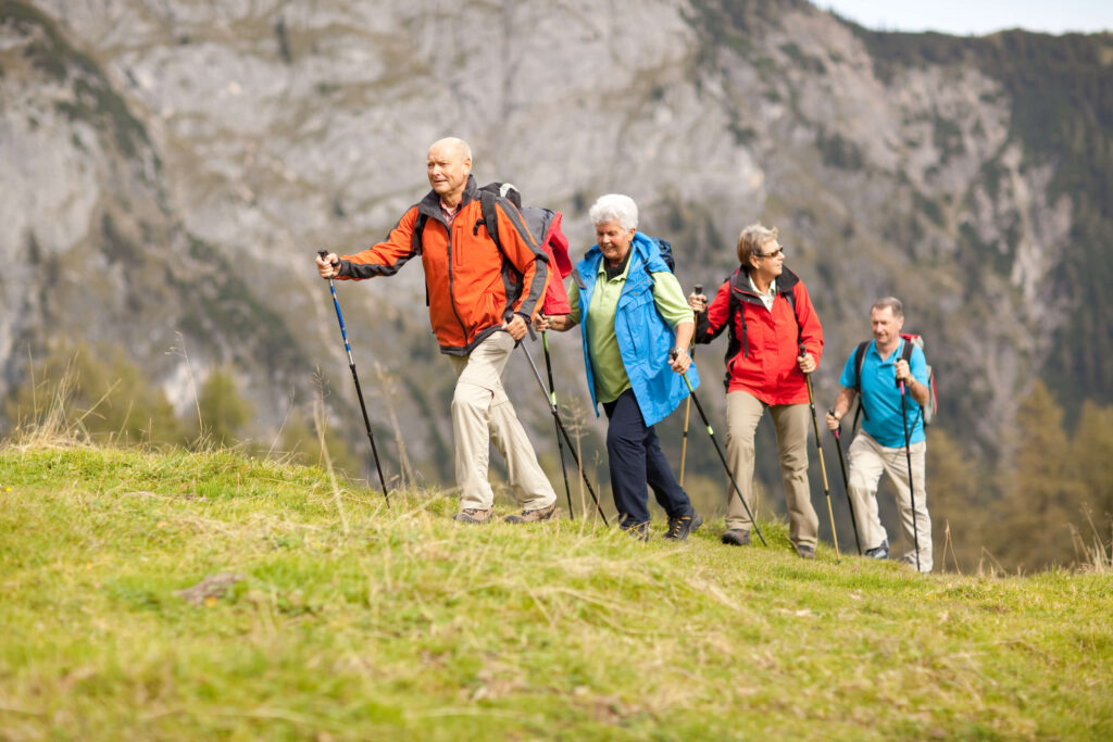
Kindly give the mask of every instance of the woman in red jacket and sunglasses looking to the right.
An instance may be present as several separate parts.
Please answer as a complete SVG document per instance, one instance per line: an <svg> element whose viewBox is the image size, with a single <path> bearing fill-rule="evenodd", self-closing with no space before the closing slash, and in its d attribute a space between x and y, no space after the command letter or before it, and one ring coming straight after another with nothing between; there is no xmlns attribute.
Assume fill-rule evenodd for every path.
<svg viewBox="0 0 1113 742"><path fill-rule="evenodd" d="M808 388L824 347L804 281L785 268L777 230L746 227L738 237L738 270L716 293L689 297L696 310L696 342L729 332L727 347L727 455L735 481L752 508L754 433L766 409L777 429L780 471L788 505L789 537L797 554L815 558L819 518L808 486ZM730 489L722 543L750 543L752 523Z"/></svg>

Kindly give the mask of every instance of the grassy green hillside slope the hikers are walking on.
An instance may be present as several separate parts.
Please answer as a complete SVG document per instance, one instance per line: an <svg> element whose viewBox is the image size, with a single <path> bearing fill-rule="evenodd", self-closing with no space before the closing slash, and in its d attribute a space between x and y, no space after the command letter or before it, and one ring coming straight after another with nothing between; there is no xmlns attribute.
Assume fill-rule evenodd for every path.
<svg viewBox="0 0 1113 742"><path fill-rule="evenodd" d="M465 527L443 493L329 482L0 448L0 739L1113 735L1109 576L809 563L778 524Z"/></svg>

